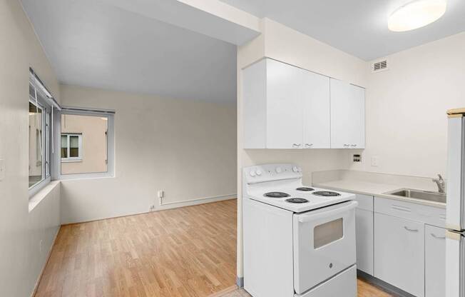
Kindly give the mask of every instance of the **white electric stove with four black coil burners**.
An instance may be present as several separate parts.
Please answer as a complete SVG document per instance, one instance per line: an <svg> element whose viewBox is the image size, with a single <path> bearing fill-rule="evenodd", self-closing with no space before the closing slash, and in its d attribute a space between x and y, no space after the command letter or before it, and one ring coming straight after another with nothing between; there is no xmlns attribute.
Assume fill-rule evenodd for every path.
<svg viewBox="0 0 465 297"><path fill-rule="evenodd" d="M303 186L288 163L243 168L242 190L246 291L357 296L353 194Z"/></svg>

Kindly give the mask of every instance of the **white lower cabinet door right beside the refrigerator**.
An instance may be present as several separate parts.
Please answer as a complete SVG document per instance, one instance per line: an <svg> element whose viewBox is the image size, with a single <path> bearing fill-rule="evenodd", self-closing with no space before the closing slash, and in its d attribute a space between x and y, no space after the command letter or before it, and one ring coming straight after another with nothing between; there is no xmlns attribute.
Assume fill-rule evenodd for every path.
<svg viewBox="0 0 465 297"><path fill-rule="evenodd" d="M425 296L446 296L446 229L424 226Z"/></svg>

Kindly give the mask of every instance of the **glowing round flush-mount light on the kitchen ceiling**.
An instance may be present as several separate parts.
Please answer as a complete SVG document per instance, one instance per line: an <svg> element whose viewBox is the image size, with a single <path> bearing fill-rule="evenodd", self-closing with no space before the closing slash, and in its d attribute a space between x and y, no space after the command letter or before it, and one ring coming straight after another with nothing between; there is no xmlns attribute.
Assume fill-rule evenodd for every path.
<svg viewBox="0 0 465 297"><path fill-rule="evenodd" d="M395 32L409 31L426 26L446 12L446 0L417 0L396 9L387 26Z"/></svg>

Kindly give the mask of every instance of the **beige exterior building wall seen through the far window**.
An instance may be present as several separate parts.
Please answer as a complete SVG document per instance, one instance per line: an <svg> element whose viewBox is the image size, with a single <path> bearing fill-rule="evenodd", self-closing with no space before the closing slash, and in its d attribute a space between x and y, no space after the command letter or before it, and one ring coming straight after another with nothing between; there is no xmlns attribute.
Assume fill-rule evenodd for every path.
<svg viewBox="0 0 465 297"><path fill-rule="evenodd" d="M81 134L79 161L61 161L61 174L106 172L107 120L100 116L61 115L61 133Z"/></svg>

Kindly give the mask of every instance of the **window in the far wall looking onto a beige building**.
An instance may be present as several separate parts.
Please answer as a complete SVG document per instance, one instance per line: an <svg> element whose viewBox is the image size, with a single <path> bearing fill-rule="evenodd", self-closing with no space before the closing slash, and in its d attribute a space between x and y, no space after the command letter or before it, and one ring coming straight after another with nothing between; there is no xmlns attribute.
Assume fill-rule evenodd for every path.
<svg viewBox="0 0 465 297"><path fill-rule="evenodd" d="M60 121L58 178L113 176L113 114L67 108Z"/></svg>

